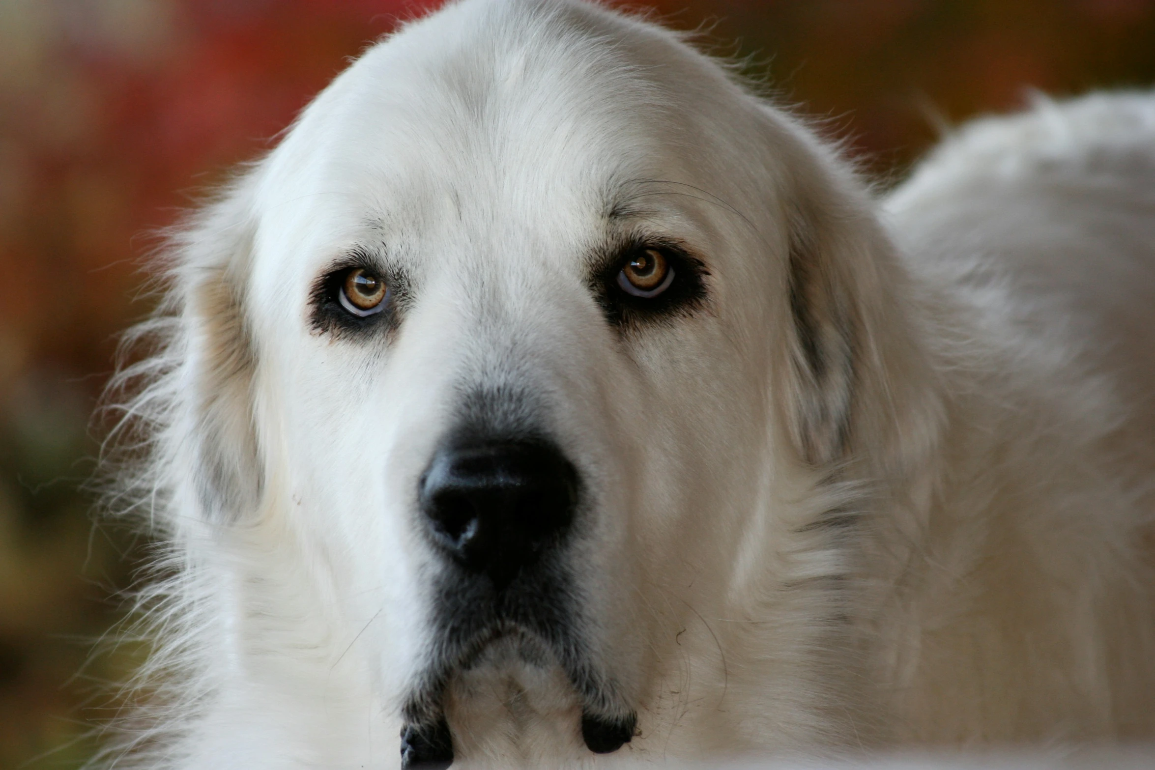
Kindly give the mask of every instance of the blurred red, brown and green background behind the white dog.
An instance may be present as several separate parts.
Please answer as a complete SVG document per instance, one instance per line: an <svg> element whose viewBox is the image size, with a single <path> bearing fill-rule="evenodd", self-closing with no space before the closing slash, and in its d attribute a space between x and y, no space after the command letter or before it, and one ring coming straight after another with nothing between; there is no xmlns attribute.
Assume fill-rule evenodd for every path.
<svg viewBox="0 0 1155 770"><path fill-rule="evenodd" d="M437 5L434 1L425 6ZM644 5L644 3L632 3ZM95 523L91 421L150 233L422 2L0 0L0 770L76 768L148 544ZM893 180L1030 89L1155 83L1155 0L657 0Z"/></svg>

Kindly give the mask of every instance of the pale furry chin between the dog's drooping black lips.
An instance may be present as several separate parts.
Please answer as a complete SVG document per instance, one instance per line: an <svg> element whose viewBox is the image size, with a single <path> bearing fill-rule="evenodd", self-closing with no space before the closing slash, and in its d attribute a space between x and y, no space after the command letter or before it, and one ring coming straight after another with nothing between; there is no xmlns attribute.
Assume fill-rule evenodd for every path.
<svg viewBox="0 0 1155 770"><path fill-rule="evenodd" d="M444 703L462 757L532 764L588 755L581 698L532 636L508 633L485 645L450 675Z"/></svg>

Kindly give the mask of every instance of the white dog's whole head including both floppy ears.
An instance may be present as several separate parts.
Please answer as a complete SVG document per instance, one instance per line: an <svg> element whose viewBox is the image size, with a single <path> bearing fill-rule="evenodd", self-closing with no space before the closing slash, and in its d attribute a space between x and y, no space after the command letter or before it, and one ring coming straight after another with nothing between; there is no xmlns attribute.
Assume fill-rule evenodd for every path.
<svg viewBox="0 0 1155 770"><path fill-rule="evenodd" d="M840 173L670 33L472 2L206 215L189 487L296 544L413 762L447 724L459 754L670 733L740 689L710 619L837 573L798 501L852 438L877 282L832 256L869 240Z"/></svg>

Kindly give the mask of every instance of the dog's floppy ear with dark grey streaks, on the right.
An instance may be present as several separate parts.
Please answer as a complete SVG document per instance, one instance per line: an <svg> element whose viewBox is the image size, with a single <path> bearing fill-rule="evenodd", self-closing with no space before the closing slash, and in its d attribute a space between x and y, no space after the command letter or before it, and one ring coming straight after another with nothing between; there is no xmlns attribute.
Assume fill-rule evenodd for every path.
<svg viewBox="0 0 1155 770"><path fill-rule="evenodd" d="M863 453L901 462L893 451L914 444L897 439L937 424L910 277L854 172L813 139L790 139L803 148L780 204L790 330L783 421L807 464Z"/></svg>

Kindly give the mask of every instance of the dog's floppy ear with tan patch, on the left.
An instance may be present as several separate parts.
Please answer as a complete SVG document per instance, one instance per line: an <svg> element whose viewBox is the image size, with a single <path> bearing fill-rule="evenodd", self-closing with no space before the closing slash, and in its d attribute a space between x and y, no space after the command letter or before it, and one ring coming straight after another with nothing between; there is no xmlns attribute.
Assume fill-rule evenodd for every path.
<svg viewBox="0 0 1155 770"><path fill-rule="evenodd" d="M178 237L184 360L171 429L188 465L180 472L202 515L215 521L253 510L263 487L253 417L256 351L244 309L254 240L245 200L238 186Z"/></svg>

